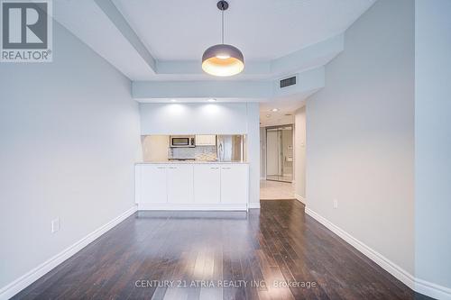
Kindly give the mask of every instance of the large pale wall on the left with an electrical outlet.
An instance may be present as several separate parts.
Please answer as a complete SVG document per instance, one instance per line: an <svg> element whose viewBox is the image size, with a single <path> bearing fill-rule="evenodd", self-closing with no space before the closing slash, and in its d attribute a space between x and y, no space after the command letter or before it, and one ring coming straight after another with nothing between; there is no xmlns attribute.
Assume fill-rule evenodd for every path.
<svg viewBox="0 0 451 300"><path fill-rule="evenodd" d="M0 288L133 206L131 83L58 23L53 33L52 63L0 66Z"/></svg>

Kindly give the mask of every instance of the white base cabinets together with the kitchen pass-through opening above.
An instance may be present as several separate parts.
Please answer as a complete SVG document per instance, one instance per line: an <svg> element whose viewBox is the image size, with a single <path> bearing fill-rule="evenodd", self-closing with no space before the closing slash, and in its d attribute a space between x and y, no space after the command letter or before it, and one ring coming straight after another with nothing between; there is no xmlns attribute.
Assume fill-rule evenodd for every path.
<svg viewBox="0 0 451 300"><path fill-rule="evenodd" d="M143 135L139 210L247 210L245 134Z"/></svg>

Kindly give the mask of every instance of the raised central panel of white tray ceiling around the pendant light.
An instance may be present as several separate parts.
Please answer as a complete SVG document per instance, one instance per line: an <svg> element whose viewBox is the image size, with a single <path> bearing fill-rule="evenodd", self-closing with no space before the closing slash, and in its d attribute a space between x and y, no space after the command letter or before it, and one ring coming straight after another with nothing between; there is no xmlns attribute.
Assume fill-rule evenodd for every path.
<svg viewBox="0 0 451 300"><path fill-rule="evenodd" d="M375 0L229 0L226 43L246 60L277 59L344 32ZM220 42L216 0L114 0L159 60L198 60Z"/></svg>

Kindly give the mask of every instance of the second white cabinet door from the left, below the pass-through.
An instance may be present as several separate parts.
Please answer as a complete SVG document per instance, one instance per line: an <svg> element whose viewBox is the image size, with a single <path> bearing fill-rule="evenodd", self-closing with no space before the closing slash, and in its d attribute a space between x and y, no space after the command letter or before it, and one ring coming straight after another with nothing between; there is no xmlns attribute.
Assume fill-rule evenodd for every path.
<svg viewBox="0 0 451 300"><path fill-rule="evenodd" d="M190 204L194 202L193 166L168 166L168 202Z"/></svg>

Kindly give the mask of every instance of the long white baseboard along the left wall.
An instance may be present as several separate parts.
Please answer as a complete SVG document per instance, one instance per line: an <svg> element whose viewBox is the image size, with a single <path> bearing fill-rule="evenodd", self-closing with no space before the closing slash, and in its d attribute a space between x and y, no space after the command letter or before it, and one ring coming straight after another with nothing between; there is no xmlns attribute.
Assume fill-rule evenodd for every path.
<svg viewBox="0 0 451 300"><path fill-rule="evenodd" d="M41 263L41 265L39 265L36 268L33 268L31 271L24 274L22 277L15 279L9 285L2 287L0 289L0 300L9 299L14 295L16 295L17 293L19 293L20 291L22 291L25 287L30 286L34 281L36 281L37 279L39 279L40 277L44 276L49 271L51 271L52 268L57 267L64 260L69 259L79 250L85 248L90 242L96 240L102 234L115 227L115 225L117 225L118 223L123 222L127 217L134 214L134 212L136 212L136 206L133 205L133 207L125 211L123 214L120 214L119 216L115 217L115 219L97 228L96 231L87 234L86 237L77 241L76 243L69 246L65 250L62 250L60 253L58 253L51 259L48 259L45 262Z"/></svg>

